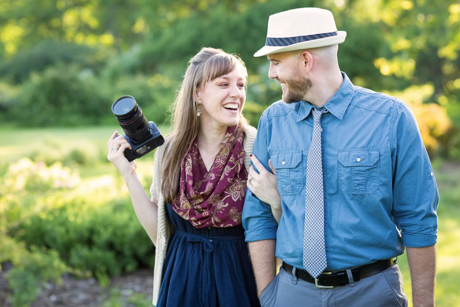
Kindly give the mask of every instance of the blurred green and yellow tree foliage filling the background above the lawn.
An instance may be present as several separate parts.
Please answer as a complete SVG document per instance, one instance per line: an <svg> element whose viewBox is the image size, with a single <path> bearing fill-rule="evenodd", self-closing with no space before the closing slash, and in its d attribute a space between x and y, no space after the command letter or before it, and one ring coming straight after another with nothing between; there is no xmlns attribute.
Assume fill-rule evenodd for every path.
<svg viewBox="0 0 460 307"><path fill-rule="evenodd" d="M57 92L64 97L61 106L50 109L66 114L68 124L109 118L111 102L127 93L154 121L164 122L187 61L202 46L240 54L249 71L247 99L265 108L280 98L280 89L267 78L265 57L252 55L264 45L270 14L305 6L331 10L337 28L347 31L339 64L356 85L382 92L432 86L422 103L439 104L452 121L437 143L447 156L460 146L460 5L452 0L3 0L0 110L12 122L22 120L14 106L45 95L29 79L38 74L50 81L58 67L72 74L63 80L81 87L75 99L81 109L63 106L70 104L66 90ZM91 73L90 82L77 77L82 71ZM96 84L98 93L85 83ZM72 87L61 88L74 94ZM250 117L257 125L257 116Z"/></svg>

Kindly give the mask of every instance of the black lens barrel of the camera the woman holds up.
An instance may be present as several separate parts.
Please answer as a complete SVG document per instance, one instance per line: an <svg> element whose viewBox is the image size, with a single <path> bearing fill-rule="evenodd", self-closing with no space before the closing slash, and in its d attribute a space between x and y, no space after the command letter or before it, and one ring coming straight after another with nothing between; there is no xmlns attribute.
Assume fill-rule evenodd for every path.
<svg viewBox="0 0 460 307"><path fill-rule="evenodd" d="M141 143L150 137L147 119L132 96L121 96L112 104L112 113L133 142Z"/></svg>

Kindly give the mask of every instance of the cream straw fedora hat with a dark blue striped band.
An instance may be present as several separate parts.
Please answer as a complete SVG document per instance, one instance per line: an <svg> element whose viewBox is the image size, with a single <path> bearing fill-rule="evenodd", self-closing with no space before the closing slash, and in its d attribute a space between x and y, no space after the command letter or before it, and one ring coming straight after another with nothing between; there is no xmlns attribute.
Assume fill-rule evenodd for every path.
<svg viewBox="0 0 460 307"><path fill-rule="evenodd" d="M337 31L332 12L303 7L271 15L265 46L254 57L324 47L345 41L346 32Z"/></svg>

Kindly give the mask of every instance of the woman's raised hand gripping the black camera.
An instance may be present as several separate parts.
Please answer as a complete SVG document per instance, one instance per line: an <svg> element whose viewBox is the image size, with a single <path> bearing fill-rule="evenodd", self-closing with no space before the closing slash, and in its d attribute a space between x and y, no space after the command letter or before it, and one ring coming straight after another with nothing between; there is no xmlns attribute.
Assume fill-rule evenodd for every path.
<svg viewBox="0 0 460 307"><path fill-rule="evenodd" d="M127 178L136 173L136 162L129 162L125 157L125 149L132 149L132 147L128 143L127 139L125 139L122 135L117 135L118 132L115 131L110 137L109 143L107 143L107 148L109 149L107 159L115 165L123 178Z"/></svg>

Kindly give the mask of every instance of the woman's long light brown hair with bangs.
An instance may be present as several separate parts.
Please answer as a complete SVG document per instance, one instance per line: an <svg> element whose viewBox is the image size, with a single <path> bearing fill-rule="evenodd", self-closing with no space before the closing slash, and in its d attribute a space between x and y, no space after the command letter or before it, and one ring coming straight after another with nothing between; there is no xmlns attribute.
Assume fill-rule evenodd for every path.
<svg viewBox="0 0 460 307"><path fill-rule="evenodd" d="M165 197L166 202L172 203L176 196L180 164L184 155L190 150L200 128L200 121L196 116L196 89L207 81L232 72L239 64L243 66L246 72L245 77L247 77L246 66L242 59L222 49L204 47L190 59L184 79L174 99L173 133L168 136L171 139L163 156L161 194ZM241 114L234 132L237 137L243 133L243 126L247 124L246 118Z"/></svg>

